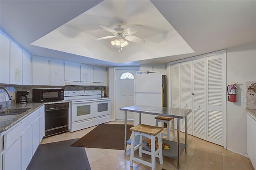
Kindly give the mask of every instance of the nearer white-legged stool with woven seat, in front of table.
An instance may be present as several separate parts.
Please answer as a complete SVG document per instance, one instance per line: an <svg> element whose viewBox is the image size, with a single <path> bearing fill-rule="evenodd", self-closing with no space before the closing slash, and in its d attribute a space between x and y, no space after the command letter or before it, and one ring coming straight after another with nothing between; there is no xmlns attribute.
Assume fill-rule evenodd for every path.
<svg viewBox="0 0 256 170"><path fill-rule="evenodd" d="M162 138L161 132L164 130L162 127L154 127L150 125L143 125L139 124L135 127L131 127L130 130L132 131L132 143L131 143L131 154L130 154L130 166L132 166L133 161L139 162L146 166L152 167L152 170L156 169L156 157L159 158L159 162L163 164L163 150L162 150ZM136 146L135 145L135 137L140 136L140 143ZM146 136L151 139L151 152L147 150L143 150L142 148L142 136ZM158 149L155 149L155 138L158 136ZM134 151L139 148L139 156L142 157L142 152L145 154L151 155L151 163L141 160L139 158L134 157Z"/></svg>

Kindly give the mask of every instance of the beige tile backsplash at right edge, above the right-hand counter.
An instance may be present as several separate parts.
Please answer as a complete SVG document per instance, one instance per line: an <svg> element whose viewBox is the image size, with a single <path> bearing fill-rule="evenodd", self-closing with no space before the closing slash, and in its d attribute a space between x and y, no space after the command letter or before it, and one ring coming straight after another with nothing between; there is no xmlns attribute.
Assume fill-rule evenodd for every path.
<svg viewBox="0 0 256 170"><path fill-rule="evenodd" d="M246 89L246 108L256 109L256 81L247 81Z"/></svg>

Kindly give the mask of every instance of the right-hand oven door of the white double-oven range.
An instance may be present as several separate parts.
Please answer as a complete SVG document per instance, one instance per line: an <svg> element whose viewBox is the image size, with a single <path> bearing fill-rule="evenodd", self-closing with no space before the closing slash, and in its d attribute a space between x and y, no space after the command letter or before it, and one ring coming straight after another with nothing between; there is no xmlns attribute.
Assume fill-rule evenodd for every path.
<svg viewBox="0 0 256 170"><path fill-rule="evenodd" d="M96 115L94 117L109 115L111 113L110 99L97 100L95 104Z"/></svg>

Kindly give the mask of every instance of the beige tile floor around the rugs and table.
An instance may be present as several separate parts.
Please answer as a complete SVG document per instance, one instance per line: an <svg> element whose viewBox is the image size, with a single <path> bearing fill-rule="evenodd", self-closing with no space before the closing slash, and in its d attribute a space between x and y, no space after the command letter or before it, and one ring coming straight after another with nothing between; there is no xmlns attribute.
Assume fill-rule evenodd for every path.
<svg viewBox="0 0 256 170"><path fill-rule="evenodd" d="M124 124L123 122L110 122ZM133 124L133 122L128 122ZM95 126L96 127L96 126ZM44 138L41 144L81 138L92 129L86 128L76 132L66 132ZM180 139L184 142L184 133ZM114 139L113 139L114 140ZM124 150L85 148L92 170L151 170L150 167L134 162L130 167L130 146ZM138 150L135 155L138 157ZM150 162L150 156L143 154L143 159ZM173 158L164 156L164 164L160 165L156 158L156 170L176 170L177 162ZM244 156L235 154L224 149L222 146L206 142L200 138L188 135L188 154L185 152L180 158L180 170L254 170L250 160Z"/></svg>

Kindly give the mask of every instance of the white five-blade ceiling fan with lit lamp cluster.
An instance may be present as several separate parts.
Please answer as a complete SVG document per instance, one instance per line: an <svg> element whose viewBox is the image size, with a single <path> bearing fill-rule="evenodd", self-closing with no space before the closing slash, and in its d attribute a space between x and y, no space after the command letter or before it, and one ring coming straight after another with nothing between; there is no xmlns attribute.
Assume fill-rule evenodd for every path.
<svg viewBox="0 0 256 170"><path fill-rule="evenodd" d="M138 38L136 36L132 36L132 34L140 31L142 29L142 26L132 26L132 27L128 27L126 29L121 28L121 25L123 24L122 21L118 21L116 22L116 25L118 26L115 29L106 27L106 26L102 26L100 25L101 28L103 28L104 30L113 33L113 36L105 36L105 37L101 37L101 38L97 38L95 40L106 40L106 39L110 39L110 38L116 38L115 40L112 40L110 43L116 47L119 48L119 52L122 50L122 47L126 46L128 44L128 41L130 42L136 42L136 43L144 43L145 40Z"/></svg>

